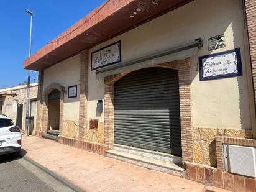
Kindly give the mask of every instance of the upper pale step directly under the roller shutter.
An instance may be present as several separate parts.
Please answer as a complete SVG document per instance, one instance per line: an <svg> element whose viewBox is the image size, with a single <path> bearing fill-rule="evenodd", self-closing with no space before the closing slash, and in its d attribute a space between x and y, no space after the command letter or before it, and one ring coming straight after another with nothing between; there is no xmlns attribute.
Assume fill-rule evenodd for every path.
<svg viewBox="0 0 256 192"><path fill-rule="evenodd" d="M181 157L171 155L168 153L155 152L152 150L139 149L136 147L129 147L126 145L119 145L119 144L114 144L114 150L117 150L120 152L125 152L125 153L131 153L134 155L140 155L143 157L153 158L153 159L160 160L163 162L169 162L169 163L175 163L177 165L182 165Z"/></svg>

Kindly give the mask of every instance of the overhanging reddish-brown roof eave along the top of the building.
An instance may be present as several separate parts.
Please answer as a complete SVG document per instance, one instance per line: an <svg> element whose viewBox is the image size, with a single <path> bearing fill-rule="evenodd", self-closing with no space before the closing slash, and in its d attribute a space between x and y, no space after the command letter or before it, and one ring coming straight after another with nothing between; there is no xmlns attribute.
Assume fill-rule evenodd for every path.
<svg viewBox="0 0 256 192"><path fill-rule="evenodd" d="M81 50L111 39L191 1L193 0L106 1L27 58L24 68L44 70Z"/></svg>

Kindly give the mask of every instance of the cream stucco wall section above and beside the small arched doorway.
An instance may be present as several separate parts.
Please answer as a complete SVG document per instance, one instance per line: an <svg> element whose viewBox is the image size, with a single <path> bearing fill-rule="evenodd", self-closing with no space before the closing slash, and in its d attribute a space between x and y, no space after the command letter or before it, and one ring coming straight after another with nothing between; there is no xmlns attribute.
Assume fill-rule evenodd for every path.
<svg viewBox="0 0 256 192"><path fill-rule="evenodd" d="M56 65L47 68L44 72L43 91L52 83L58 83L65 86L68 92L68 86L77 85L76 98L68 98L64 94L64 119L79 119L79 93L80 93L80 54Z"/></svg>

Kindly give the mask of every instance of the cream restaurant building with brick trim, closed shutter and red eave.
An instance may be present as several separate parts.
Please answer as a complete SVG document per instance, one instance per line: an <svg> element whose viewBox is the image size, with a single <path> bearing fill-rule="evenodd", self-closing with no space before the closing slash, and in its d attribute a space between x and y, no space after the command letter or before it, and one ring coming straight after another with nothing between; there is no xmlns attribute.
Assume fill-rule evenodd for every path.
<svg viewBox="0 0 256 192"><path fill-rule="evenodd" d="M254 1L106 1L25 60L39 71L36 135L157 153L174 164L158 170L255 191L223 147L256 145L254 34Z"/></svg>

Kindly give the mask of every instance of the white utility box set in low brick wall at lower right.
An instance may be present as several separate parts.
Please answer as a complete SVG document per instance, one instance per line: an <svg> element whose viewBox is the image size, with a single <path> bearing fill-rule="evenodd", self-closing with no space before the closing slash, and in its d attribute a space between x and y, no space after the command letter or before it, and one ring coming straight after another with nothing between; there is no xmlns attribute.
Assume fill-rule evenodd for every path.
<svg viewBox="0 0 256 192"><path fill-rule="evenodd" d="M256 153L254 147L223 145L225 171L256 177Z"/></svg>

